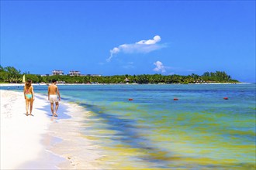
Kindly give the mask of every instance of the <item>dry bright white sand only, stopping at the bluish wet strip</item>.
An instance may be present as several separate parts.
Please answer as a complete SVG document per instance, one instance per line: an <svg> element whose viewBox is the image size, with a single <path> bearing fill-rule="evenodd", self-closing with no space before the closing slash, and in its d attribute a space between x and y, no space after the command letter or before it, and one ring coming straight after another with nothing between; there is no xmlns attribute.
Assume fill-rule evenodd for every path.
<svg viewBox="0 0 256 170"><path fill-rule="evenodd" d="M36 99L34 116L26 116L23 94L1 90L1 169L17 169L43 151L42 134L50 124L45 105L47 100Z"/></svg>

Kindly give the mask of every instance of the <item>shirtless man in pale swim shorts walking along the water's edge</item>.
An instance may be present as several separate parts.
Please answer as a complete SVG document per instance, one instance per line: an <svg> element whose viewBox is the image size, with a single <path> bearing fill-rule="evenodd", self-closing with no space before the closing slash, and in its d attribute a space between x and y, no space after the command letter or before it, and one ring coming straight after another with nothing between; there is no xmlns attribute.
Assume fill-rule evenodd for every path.
<svg viewBox="0 0 256 170"><path fill-rule="evenodd" d="M55 79L52 80L52 83L48 87L48 100L50 101L50 110L53 116L57 117L57 108L59 107L59 101L61 101L61 95L59 89L56 86L57 81ZM57 97L58 96L58 97ZM55 103L55 110L54 110Z"/></svg>

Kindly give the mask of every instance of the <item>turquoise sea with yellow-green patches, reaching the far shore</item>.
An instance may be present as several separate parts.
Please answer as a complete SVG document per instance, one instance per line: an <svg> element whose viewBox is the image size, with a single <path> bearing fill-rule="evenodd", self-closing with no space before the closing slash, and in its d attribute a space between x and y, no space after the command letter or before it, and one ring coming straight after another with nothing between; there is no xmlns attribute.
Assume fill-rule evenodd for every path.
<svg viewBox="0 0 256 170"><path fill-rule="evenodd" d="M255 168L255 88L255 83L59 86L62 100L90 111L81 133L106 151L102 162L118 168ZM34 90L46 95L47 86Z"/></svg>

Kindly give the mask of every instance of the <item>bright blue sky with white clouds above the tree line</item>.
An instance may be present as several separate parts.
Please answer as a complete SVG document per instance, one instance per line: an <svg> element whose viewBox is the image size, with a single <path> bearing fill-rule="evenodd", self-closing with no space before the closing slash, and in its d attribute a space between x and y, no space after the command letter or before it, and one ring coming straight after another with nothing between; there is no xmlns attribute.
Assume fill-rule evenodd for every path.
<svg viewBox="0 0 256 170"><path fill-rule="evenodd" d="M1 1L1 65L255 82L255 2Z"/></svg>

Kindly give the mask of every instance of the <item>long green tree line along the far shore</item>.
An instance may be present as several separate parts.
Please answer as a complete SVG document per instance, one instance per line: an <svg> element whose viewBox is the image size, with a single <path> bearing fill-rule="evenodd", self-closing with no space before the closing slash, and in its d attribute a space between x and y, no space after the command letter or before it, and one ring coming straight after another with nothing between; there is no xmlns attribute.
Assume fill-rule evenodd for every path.
<svg viewBox="0 0 256 170"><path fill-rule="evenodd" d="M26 80L33 83L50 83L55 79L58 83L240 83L233 80L224 71L206 72L201 76L192 73L188 76L182 75L161 75L161 74L141 74L141 75L114 75L114 76L71 76L71 75L50 75L41 76L38 74L21 73L13 66L0 66L0 83L22 83L22 77L26 75Z"/></svg>

